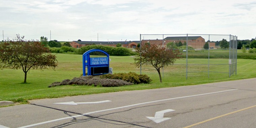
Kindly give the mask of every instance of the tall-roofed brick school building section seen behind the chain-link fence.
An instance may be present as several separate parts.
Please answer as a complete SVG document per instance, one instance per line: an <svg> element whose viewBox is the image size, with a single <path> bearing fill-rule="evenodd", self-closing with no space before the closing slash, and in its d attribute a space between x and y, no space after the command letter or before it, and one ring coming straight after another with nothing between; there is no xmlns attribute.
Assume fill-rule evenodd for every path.
<svg viewBox="0 0 256 128"><path fill-rule="evenodd" d="M201 36L188 36L188 42L187 42L187 36L175 36L175 37L166 37L163 40L162 39L141 40L141 43L163 45L166 47L166 44L169 42L179 43L180 41L182 42L182 44L184 44L185 42L188 43L188 46L191 46L194 49L203 49L203 45L205 44L205 40ZM215 48L215 42L210 42L210 47Z"/></svg>

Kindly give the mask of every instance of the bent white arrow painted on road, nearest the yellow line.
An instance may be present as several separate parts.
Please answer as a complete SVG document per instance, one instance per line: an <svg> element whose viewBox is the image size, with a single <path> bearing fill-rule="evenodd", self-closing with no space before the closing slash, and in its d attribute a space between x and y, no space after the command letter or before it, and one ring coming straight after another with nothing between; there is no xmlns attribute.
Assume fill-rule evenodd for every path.
<svg viewBox="0 0 256 128"><path fill-rule="evenodd" d="M149 118L150 120L152 120L156 123L160 123L160 122L171 119L171 118L164 118L164 113L168 113L170 111L175 111L175 110L166 109L166 110L162 110L162 111L157 111L155 114L155 117L147 117L147 118Z"/></svg>

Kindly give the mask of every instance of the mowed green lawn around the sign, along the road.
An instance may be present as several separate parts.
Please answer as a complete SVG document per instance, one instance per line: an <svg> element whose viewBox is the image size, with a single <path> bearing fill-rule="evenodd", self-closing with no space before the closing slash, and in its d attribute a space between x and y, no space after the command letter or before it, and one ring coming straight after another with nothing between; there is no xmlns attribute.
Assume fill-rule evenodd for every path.
<svg viewBox="0 0 256 128"><path fill-rule="evenodd" d="M0 101L23 101L125 90L166 88L256 77L256 60L238 59L237 75L229 77L228 73L216 73L228 72L228 59L211 59L210 64L218 64L210 65L210 71L212 72L208 74L208 65L189 65L188 79L186 79L186 65L184 65L186 59L179 59L175 62L175 65L164 68L164 71L161 70L163 83L160 83L158 73L152 66L143 66L141 68L142 74L147 74L153 79L151 84L110 88L74 85L48 88L53 82L79 77L83 73L82 55L56 54L56 56L58 67L55 71L53 69L30 70L27 75L27 84L22 83L24 81L22 69L5 68L0 70ZM113 73L130 71L140 73L140 68L132 64L134 60L131 56L110 56L110 59L110 67L113 67ZM208 59L188 59L188 63L208 64Z"/></svg>

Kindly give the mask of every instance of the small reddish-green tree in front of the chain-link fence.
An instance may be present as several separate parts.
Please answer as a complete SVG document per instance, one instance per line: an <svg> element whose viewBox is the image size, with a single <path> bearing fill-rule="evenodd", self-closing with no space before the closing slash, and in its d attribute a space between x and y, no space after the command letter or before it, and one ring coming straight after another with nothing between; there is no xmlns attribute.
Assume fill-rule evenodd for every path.
<svg viewBox="0 0 256 128"><path fill-rule="evenodd" d="M172 65L177 59L180 58L179 50L167 50L165 47L153 45L141 45L140 48L136 47L136 52L140 56L134 58L136 67L140 65L152 65L158 72L160 82L162 77L160 69Z"/></svg>

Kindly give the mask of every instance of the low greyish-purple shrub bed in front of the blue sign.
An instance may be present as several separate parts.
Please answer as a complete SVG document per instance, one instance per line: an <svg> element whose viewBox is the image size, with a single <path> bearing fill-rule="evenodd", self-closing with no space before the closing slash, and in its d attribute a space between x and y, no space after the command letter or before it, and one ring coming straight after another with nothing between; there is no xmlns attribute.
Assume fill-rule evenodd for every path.
<svg viewBox="0 0 256 128"><path fill-rule="evenodd" d="M123 81L121 79L106 79L95 77L74 77L73 79L65 79L62 82L54 82L48 87L56 87L63 85L81 85L81 86L97 86L97 87L119 87L124 85L133 85L133 83Z"/></svg>

